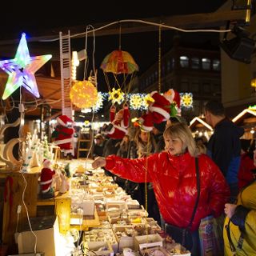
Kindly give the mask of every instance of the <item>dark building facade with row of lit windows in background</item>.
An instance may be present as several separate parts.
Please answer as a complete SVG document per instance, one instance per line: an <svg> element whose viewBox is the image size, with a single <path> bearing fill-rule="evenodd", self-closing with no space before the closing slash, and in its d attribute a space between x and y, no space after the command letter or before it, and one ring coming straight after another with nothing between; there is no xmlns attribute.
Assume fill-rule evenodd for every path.
<svg viewBox="0 0 256 256"><path fill-rule="evenodd" d="M158 88L158 62L155 62L139 77L139 91L150 93ZM206 101L221 100L220 51L182 46L179 38L174 38L174 46L161 59L161 92L170 88L193 94L193 108L182 108L182 116L188 122L203 113Z"/></svg>

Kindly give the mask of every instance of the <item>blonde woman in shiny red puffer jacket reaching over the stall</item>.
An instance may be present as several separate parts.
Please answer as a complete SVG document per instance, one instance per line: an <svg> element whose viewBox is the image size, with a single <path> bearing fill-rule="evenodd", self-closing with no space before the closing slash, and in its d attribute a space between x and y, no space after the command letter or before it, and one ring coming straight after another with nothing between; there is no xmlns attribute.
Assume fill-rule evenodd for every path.
<svg viewBox="0 0 256 256"><path fill-rule="evenodd" d="M198 256L200 221L210 214L214 217L222 214L230 190L218 166L205 154L199 155L186 124L174 124L163 135L166 143L164 152L137 159L119 158L115 155L97 158L93 162L93 168L105 166L107 170L133 182L153 182L164 221L167 225L187 228L198 196L195 165L195 158L198 157L200 198L190 227L193 248L187 248L192 251L192 255Z"/></svg>

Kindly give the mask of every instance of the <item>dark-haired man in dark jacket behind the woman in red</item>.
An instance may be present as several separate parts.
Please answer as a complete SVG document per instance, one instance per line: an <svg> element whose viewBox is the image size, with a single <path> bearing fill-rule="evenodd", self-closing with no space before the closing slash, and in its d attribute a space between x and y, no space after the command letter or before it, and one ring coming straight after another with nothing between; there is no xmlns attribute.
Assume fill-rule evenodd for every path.
<svg viewBox="0 0 256 256"><path fill-rule="evenodd" d="M244 130L226 118L221 102L210 101L205 106L206 122L214 127L207 144L207 154L218 165L230 185L231 199L238 194L238 169L240 166L240 137Z"/></svg>

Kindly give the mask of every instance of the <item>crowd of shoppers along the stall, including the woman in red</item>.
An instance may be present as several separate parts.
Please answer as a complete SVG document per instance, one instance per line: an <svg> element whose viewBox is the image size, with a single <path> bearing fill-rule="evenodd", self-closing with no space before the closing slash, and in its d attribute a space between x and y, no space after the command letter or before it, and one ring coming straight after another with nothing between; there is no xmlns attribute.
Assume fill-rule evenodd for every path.
<svg viewBox="0 0 256 256"><path fill-rule="evenodd" d="M190 230L192 242L178 242L193 256L202 251L200 222L210 215L226 216L218 223L223 255L256 255L255 142L243 146L244 131L226 117L221 102L207 102L205 117L214 128L208 142L193 138L180 117L162 118L152 129L134 127L122 139L97 134L93 167L104 168L128 194L147 204L150 217L170 236L173 227Z"/></svg>

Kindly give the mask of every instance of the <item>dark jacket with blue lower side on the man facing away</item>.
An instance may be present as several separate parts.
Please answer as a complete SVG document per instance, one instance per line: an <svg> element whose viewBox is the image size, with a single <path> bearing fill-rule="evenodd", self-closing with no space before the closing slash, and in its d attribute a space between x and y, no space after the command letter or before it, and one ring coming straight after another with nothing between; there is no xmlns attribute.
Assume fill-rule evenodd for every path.
<svg viewBox="0 0 256 256"><path fill-rule="evenodd" d="M214 127L214 134L207 145L207 154L222 170L229 184L238 182L242 134L243 128L225 118Z"/></svg>

